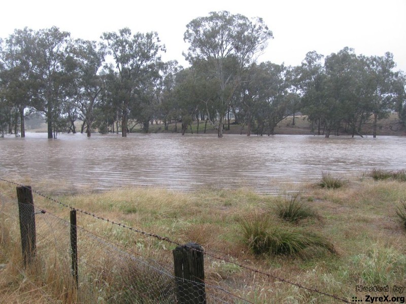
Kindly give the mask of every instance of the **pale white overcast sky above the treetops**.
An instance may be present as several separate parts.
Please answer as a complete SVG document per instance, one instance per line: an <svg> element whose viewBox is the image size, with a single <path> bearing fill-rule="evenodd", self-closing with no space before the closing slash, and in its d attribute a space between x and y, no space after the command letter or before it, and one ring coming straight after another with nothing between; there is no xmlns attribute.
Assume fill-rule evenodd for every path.
<svg viewBox="0 0 406 304"><path fill-rule="evenodd" d="M57 26L72 37L99 40L105 31L129 27L132 32L156 31L166 46L166 60L187 65L182 52L186 24L226 10L261 17L273 31L259 61L299 65L309 51L323 55L354 48L356 54L391 52L397 68L406 71L406 0L248 0L233 1L94 1L8 0L1 5L0 37L16 28L38 30Z"/></svg>

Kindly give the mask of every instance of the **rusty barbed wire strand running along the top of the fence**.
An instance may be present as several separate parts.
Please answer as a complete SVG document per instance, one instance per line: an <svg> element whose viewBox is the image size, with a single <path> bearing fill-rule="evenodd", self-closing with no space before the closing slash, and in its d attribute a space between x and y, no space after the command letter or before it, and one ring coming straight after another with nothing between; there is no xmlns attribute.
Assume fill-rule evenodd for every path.
<svg viewBox="0 0 406 304"><path fill-rule="evenodd" d="M1 181L4 181L4 182L7 182L7 183L10 183L10 184L14 184L14 185L20 186L20 187L27 187L27 186L25 186L25 185L23 185L23 184L20 184L20 183L14 182L14 181L10 181L10 180L4 179L4 178L0 178L0 180L1 180ZM248 271L250 271L250 272L253 272L253 273L256 273L256 274L260 274L260 275L266 276L268 279L270 279L270 278L276 279L276 280L278 280L278 281L280 281L280 282L287 283L287 284L296 286L296 287L298 287L298 288L301 288L301 289L304 289L304 290L308 290L308 291L310 291L310 292L322 294L322 295L325 295L325 296L334 298L334 299L336 299L336 300L340 300L340 301L345 302L345 303L352 303L352 302L350 302L349 300L347 300L347 299L345 299L345 298L342 298L342 297L340 297L340 296L337 296L337 295L335 295L335 294L330 294L330 293L327 293L327 292L323 292L323 291L320 291L320 290L318 290L318 289L316 289L316 288L306 287L306 286L303 286L303 285L301 285L301 284L299 284L299 283L292 282L292 281L290 281L290 280L281 278L281 277L279 277L279 276L276 276L276 275L273 275L273 274L269 274L269 273L266 273L266 272L263 272L263 271L260 271L260 270L257 270L257 269L248 267L248 266L246 266L246 265L244 265L244 264L241 264L241 263L238 263L238 262L235 262L235 261L231 261L231 260L228 259L228 258L220 257L220 256L215 255L215 254L212 254L212 253L210 253L210 252L205 252L204 250L199 250L199 249L197 249L197 248L189 247L188 245L182 245L182 244L180 244L180 243L178 243L178 242L176 242L176 241L171 240L171 239L168 238L168 237L162 237L162 236L157 235L157 234L145 232L145 231L136 229L136 228L134 228L134 227L128 226L128 225L126 225L126 224L123 224L123 223L120 223L120 222L117 222L117 221L113 221L113 220L110 220L110 219L108 219L108 218L101 217L101 216L96 215L96 214L94 214L94 213L92 213L92 212L89 212L89 211L86 211L86 210L82 210L82 209L77 209L77 208L72 207L72 206L70 206L70 205L64 204L64 203L62 203L62 202L60 202L60 201L58 201L58 200L56 200L56 199L54 199L54 198L52 198L52 197L49 197L49 196L47 196L47 195L44 195L44 194L42 194L42 193L40 193L40 192L38 192L38 191L36 191L36 190L34 190L34 189L31 189L31 191L32 191L32 193L35 193L35 194L37 194L37 195L39 195L39 196L41 196L41 197L43 197L43 198L45 198L45 199L47 199L47 200L50 200L50 201L52 201L52 202L54 202L54 203L57 203L57 204L61 205L61 206L63 206L63 207L69 208L69 209L71 209L71 210L76 210L76 211L78 211L78 212L80 212L80 213L82 213L82 214L86 214L86 215L88 215L88 216L92 216L93 218L96 218L96 219L99 219L99 220L106 221L106 222L108 222L108 223L110 223L110 224L112 224L112 225L118 225L118 226L123 227L124 229L128 229L128 230L130 230L130 231L132 231L132 232L139 233L139 234L144 235L144 236L152 237L152 238L155 238L155 239L158 239L158 240L161 240L161 241L165 241L165 242L168 242L168 243L177 245L177 246L187 247L187 248L190 248L190 249L192 249L192 250L194 250L194 251L202 252L202 253L206 254L207 256L213 257L213 258L218 259L218 260L225 261L225 262L230 263L230 264L234 264L234 265L236 265L236 266L238 266L238 267L240 267L240 268L242 268L242 269L248 270ZM245 299L244 299L244 300L245 300Z"/></svg>

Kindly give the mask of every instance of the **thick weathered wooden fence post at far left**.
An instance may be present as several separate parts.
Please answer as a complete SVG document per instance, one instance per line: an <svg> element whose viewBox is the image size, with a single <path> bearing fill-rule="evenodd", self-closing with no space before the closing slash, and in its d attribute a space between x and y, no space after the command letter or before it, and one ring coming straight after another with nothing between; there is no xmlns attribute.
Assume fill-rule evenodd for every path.
<svg viewBox="0 0 406 304"><path fill-rule="evenodd" d="M20 219L21 250L25 267L31 263L36 253L35 212L31 186L17 187L17 201Z"/></svg>

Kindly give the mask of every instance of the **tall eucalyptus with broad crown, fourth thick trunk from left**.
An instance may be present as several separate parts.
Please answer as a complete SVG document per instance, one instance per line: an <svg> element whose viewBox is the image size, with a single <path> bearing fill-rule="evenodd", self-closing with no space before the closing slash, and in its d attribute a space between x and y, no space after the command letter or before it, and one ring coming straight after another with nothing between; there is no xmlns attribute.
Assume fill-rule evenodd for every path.
<svg viewBox="0 0 406 304"><path fill-rule="evenodd" d="M113 56L118 75L118 97L121 111L121 132L127 136L129 112L137 111L137 92L160 61L159 51L165 51L156 32L131 34L129 28L105 32L101 36Z"/></svg>

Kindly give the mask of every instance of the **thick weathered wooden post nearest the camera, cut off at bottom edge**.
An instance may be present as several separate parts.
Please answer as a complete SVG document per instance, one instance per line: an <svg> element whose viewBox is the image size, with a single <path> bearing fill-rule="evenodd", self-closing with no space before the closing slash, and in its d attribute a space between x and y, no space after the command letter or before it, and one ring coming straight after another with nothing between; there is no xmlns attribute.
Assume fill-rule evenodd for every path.
<svg viewBox="0 0 406 304"><path fill-rule="evenodd" d="M196 243L173 250L177 303L206 304L204 249Z"/></svg>

